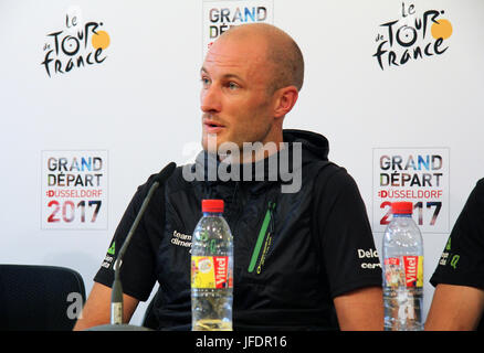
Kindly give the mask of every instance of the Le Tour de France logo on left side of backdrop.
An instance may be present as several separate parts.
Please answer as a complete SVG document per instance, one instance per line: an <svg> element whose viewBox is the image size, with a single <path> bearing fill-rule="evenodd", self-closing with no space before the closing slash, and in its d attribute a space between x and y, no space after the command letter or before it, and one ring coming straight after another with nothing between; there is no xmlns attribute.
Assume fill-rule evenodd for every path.
<svg viewBox="0 0 484 353"><path fill-rule="evenodd" d="M70 7L63 17L63 28L46 34L41 65L49 77L99 65L107 57L109 43L103 22L83 21L81 9Z"/></svg>

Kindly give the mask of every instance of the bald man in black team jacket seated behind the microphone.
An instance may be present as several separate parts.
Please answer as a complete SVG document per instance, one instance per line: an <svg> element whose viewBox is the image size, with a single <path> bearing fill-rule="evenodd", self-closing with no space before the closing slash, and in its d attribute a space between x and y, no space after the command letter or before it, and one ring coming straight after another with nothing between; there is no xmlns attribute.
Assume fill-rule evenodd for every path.
<svg viewBox="0 0 484 353"><path fill-rule="evenodd" d="M277 150L251 153L251 170L262 167L266 172L263 180L251 175L252 181L187 181L178 168L155 194L126 253L122 267L124 322L158 280L157 329L190 329L187 242L201 217L201 200L222 199L234 240L235 330L382 329L381 267L356 183L343 168L327 161L328 145L323 136L283 131L283 119L297 100L303 77L297 44L275 26L241 25L213 43L201 68L204 152L198 161L213 163L213 154L224 143L240 149L246 142L274 143L284 151L296 151L299 143L301 158L290 156L296 156L293 162L301 164L292 165L293 171L302 172L301 190L283 193L285 181L280 173L267 179L267 161L281 154ZM211 143L211 139L217 141ZM214 159L215 165L221 159ZM149 183L138 189L112 248L120 247ZM272 239L264 238L270 245L263 255L254 244L271 204L275 204L271 208ZM108 322L112 263L113 258L108 268L102 267L96 275L76 329Z"/></svg>

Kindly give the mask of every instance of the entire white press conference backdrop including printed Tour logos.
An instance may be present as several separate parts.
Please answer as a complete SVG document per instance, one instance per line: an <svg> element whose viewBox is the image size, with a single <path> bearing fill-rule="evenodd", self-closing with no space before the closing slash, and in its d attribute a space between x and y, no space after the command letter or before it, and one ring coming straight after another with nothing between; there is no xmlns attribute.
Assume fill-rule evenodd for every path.
<svg viewBox="0 0 484 353"><path fill-rule="evenodd" d="M379 250L390 202L414 203L427 315L429 278L484 176L481 0L1 0L0 263L71 267L90 291L136 188L200 150L203 55L249 22L299 44L285 127L329 139Z"/></svg>

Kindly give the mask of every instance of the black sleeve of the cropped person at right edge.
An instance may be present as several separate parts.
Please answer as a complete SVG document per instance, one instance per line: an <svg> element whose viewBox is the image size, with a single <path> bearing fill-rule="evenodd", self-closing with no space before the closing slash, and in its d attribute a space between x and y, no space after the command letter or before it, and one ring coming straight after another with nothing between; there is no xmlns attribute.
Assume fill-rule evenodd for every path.
<svg viewBox="0 0 484 353"><path fill-rule="evenodd" d="M484 179L459 215L430 282L484 289Z"/></svg>

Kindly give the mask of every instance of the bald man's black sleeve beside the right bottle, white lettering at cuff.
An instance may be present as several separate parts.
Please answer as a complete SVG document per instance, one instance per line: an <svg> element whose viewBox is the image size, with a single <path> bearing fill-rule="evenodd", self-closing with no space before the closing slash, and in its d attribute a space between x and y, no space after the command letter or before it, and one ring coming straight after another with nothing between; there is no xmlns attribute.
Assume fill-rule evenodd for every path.
<svg viewBox="0 0 484 353"><path fill-rule="evenodd" d="M345 169L329 165L317 179L324 266L332 297L381 286L381 265L365 203Z"/></svg>

